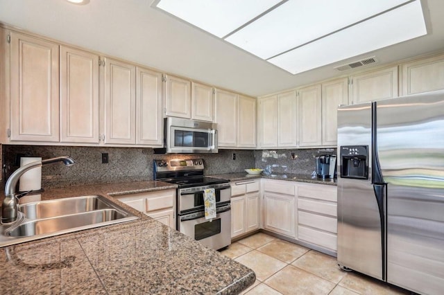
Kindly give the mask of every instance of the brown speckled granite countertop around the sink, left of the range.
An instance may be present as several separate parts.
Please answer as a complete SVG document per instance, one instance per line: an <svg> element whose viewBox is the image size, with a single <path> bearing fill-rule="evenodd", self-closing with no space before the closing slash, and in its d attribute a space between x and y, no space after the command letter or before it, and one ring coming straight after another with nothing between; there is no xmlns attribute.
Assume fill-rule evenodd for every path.
<svg viewBox="0 0 444 295"><path fill-rule="evenodd" d="M137 181L49 188L41 198L103 195L114 200L113 195L176 187L162 181ZM248 267L119 205L139 219L0 248L2 292L237 294L255 282L255 273Z"/></svg>

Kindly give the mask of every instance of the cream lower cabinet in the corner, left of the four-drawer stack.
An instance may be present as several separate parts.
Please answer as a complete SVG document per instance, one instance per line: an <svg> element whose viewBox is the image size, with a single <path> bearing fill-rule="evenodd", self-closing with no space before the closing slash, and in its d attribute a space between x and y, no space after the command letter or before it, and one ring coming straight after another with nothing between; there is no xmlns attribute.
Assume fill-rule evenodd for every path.
<svg viewBox="0 0 444 295"><path fill-rule="evenodd" d="M292 181L262 179L264 229L296 238L296 191Z"/></svg>

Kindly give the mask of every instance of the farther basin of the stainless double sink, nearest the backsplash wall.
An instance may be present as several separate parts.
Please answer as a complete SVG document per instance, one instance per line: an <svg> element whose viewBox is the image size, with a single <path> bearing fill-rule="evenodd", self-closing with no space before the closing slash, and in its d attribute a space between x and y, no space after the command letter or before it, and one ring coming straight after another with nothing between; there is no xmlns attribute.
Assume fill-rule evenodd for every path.
<svg viewBox="0 0 444 295"><path fill-rule="evenodd" d="M22 212L27 219L37 220L111 208L107 202L108 199L98 195L70 197L67 199L53 199L51 201L19 205L19 211Z"/></svg>

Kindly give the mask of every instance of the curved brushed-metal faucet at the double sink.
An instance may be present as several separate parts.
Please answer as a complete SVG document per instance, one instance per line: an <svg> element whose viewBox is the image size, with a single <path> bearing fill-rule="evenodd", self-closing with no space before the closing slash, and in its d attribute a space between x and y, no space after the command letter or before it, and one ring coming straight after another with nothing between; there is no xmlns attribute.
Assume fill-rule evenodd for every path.
<svg viewBox="0 0 444 295"><path fill-rule="evenodd" d="M71 157L57 157L52 159L46 159L43 161L35 161L28 163L25 166L20 167L15 170L12 175L8 178L5 185L5 199L1 205L1 223L6 224L10 222L15 222L17 220L17 211L19 206L19 200L15 193L15 187L17 186L17 181L24 175L24 173L33 168L41 167L46 164L63 162L67 166L74 164L74 160Z"/></svg>

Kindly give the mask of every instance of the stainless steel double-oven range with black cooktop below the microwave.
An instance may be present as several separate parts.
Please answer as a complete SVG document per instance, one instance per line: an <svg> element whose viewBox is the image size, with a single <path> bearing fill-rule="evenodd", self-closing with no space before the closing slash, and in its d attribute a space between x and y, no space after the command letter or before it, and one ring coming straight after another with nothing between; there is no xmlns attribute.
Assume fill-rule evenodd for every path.
<svg viewBox="0 0 444 295"><path fill-rule="evenodd" d="M203 159L154 160L154 179L177 184L177 230L213 249L231 244L231 188L227 179L205 177ZM214 188L216 218L205 219L204 190Z"/></svg>

